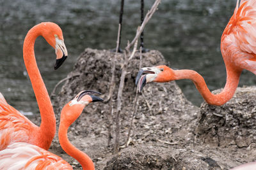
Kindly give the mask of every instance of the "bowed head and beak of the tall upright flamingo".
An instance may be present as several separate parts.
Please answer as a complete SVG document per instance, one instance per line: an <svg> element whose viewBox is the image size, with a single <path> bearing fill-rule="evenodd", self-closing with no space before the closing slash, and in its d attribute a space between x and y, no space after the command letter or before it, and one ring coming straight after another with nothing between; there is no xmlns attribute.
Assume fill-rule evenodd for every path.
<svg viewBox="0 0 256 170"><path fill-rule="evenodd" d="M42 22L38 25L42 25L42 36L55 49L56 64L54 69L58 69L68 57L61 28L52 22Z"/></svg>

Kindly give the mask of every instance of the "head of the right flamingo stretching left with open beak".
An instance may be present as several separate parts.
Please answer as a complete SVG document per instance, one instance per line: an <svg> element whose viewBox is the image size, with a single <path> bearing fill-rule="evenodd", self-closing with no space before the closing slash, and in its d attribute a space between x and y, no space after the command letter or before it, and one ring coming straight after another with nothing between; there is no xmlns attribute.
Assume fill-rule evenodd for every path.
<svg viewBox="0 0 256 170"><path fill-rule="evenodd" d="M143 67L137 74L135 84L141 92L143 87L151 81L164 83L174 79L173 70L168 66Z"/></svg>

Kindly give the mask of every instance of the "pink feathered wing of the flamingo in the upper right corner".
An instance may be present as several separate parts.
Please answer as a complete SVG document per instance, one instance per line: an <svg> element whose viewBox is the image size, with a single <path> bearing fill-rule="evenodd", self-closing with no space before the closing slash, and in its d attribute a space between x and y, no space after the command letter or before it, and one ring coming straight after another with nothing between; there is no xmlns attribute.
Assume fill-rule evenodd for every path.
<svg viewBox="0 0 256 170"><path fill-rule="evenodd" d="M256 1L237 0L234 15L221 37L223 56L232 56L234 66L256 74Z"/></svg>

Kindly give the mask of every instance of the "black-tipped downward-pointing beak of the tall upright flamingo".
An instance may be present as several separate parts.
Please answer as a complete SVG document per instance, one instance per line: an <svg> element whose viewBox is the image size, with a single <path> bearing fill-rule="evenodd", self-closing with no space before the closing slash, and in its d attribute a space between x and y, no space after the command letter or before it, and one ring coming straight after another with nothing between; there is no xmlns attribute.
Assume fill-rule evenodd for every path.
<svg viewBox="0 0 256 170"><path fill-rule="evenodd" d="M68 57L68 52L64 44L64 41L58 38L56 38L55 53L57 55L57 59L56 59L56 64L54 66L54 69L58 69L58 67L60 67L61 64L63 64L63 62Z"/></svg>

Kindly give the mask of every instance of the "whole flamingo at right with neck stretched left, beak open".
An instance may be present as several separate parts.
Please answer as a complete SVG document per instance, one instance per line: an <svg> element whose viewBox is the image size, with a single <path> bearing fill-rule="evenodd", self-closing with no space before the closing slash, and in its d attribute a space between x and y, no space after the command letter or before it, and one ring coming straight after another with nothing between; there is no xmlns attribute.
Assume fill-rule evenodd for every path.
<svg viewBox="0 0 256 170"><path fill-rule="evenodd" d="M227 82L220 94L212 94L204 78L189 69L173 70L167 66L144 67L136 77L139 91L151 81L168 82L180 79L192 80L196 89L209 104L220 106L227 103L236 92L243 69L256 74L256 1L237 0L234 14L222 36L221 53L227 70ZM145 74L143 74L145 73Z"/></svg>

